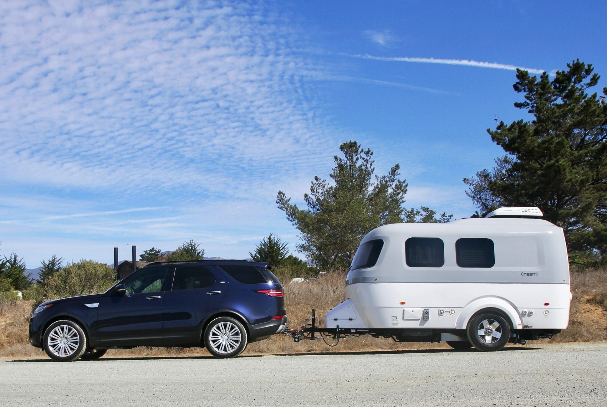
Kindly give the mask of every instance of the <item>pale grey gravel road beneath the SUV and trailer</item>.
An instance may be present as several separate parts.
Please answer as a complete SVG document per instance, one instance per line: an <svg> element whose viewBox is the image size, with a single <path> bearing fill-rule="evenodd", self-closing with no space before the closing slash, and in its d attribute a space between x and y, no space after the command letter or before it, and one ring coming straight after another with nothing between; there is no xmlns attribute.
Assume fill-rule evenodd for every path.
<svg viewBox="0 0 607 407"><path fill-rule="evenodd" d="M0 404L605 406L607 343L500 352L0 360Z"/></svg>

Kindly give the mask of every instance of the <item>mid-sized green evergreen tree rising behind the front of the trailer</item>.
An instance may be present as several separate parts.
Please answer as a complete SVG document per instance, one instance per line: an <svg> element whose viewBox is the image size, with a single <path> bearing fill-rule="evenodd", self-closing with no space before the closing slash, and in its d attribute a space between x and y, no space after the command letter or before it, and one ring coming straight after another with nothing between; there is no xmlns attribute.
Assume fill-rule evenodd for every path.
<svg viewBox="0 0 607 407"><path fill-rule="evenodd" d="M301 232L297 248L325 270L346 269L361 239L380 225L402 222L402 203L407 183L398 179L399 165L388 174L375 176L373 152L356 142L339 146L344 157L334 157L330 174L333 185L314 177L310 194L304 195L307 209L290 203L279 191L276 203Z"/></svg>

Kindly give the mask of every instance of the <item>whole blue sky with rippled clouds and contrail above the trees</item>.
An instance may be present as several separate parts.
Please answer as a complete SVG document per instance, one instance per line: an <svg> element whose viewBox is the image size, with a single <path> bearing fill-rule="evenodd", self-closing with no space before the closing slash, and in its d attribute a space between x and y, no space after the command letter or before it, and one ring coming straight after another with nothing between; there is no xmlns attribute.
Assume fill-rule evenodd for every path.
<svg viewBox="0 0 607 407"><path fill-rule="evenodd" d="M113 261L195 239L245 258L297 230L356 140L405 207L469 216L514 67L607 75L606 2L0 3L0 253ZM606 86L605 80L600 86ZM597 89L598 90L598 89ZM298 255L298 253L295 253Z"/></svg>

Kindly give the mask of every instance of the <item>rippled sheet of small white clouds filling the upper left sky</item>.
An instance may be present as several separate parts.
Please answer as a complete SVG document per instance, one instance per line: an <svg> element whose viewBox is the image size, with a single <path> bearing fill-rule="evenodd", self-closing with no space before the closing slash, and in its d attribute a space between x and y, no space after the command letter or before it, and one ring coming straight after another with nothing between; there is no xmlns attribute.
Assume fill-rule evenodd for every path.
<svg viewBox="0 0 607 407"><path fill-rule="evenodd" d="M0 177L275 194L331 152L303 37L254 4L3 1Z"/></svg>

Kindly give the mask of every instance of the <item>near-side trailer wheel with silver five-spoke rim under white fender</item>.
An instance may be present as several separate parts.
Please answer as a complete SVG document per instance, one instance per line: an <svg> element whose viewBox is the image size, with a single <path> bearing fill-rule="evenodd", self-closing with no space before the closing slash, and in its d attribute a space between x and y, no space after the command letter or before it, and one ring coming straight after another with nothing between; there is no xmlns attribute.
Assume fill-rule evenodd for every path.
<svg viewBox="0 0 607 407"><path fill-rule="evenodd" d="M470 318L468 340L479 351L499 351L510 339L510 324L495 312L481 312Z"/></svg>

